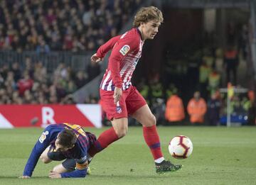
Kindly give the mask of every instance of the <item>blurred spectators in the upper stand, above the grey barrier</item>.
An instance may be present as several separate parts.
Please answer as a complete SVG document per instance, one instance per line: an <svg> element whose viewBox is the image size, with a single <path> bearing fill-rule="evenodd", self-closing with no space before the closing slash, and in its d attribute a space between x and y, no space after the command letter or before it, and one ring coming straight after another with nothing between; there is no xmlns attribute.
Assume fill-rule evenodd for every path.
<svg viewBox="0 0 256 185"><path fill-rule="evenodd" d="M2 0L0 50L95 50L117 35L141 0Z"/></svg>

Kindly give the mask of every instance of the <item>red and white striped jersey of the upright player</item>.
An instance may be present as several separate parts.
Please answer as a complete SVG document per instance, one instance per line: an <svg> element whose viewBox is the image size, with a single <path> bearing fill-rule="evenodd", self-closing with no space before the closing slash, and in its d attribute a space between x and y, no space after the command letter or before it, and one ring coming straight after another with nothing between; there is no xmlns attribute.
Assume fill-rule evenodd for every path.
<svg viewBox="0 0 256 185"><path fill-rule="evenodd" d="M112 50L108 67L100 84L100 89L114 91L117 86L126 90L132 85L134 69L142 56L142 35L138 28L132 28L123 35L118 35L100 46L97 57L105 57Z"/></svg>

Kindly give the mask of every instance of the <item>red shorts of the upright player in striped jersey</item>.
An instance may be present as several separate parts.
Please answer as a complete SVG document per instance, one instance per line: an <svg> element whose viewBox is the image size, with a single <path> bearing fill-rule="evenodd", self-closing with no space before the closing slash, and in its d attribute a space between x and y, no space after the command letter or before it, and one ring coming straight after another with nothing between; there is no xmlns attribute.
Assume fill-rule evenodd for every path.
<svg viewBox="0 0 256 185"><path fill-rule="evenodd" d="M128 115L132 115L132 113L146 105L145 99L134 86L130 86L129 89L122 91L119 106L114 104L113 95L114 91L100 89L101 105L109 120L113 118L127 118Z"/></svg>

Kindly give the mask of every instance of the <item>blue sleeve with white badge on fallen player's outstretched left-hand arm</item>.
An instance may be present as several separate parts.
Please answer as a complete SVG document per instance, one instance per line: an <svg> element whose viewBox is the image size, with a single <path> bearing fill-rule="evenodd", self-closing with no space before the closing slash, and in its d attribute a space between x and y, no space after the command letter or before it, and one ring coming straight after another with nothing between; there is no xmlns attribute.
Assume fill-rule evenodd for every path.
<svg viewBox="0 0 256 185"><path fill-rule="evenodd" d="M50 145L50 127L46 128L41 134L41 137L36 142L36 145L33 147L28 162L26 163L25 169L23 171L23 176L32 176L33 170L36 167L39 157L46 150L46 147Z"/></svg>

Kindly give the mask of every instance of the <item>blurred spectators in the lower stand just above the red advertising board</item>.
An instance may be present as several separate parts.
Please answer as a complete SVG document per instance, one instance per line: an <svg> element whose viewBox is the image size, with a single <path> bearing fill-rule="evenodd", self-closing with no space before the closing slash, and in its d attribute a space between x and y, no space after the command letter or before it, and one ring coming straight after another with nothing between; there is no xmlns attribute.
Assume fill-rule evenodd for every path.
<svg viewBox="0 0 256 185"><path fill-rule="evenodd" d="M92 63L78 72L60 63L49 74L41 61L26 57L24 67L18 62L0 67L0 104L74 103L73 92L99 74L100 65ZM95 98L85 103L91 101L95 103Z"/></svg>

